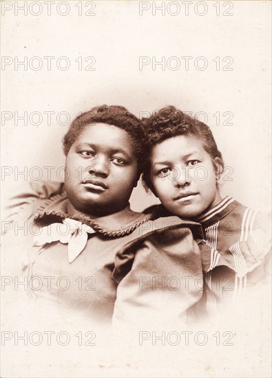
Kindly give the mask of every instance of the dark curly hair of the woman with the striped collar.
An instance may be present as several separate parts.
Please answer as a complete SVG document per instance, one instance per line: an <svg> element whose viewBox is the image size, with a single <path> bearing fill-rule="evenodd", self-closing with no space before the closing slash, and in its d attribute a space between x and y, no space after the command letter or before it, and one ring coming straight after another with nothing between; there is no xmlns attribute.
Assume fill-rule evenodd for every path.
<svg viewBox="0 0 272 378"><path fill-rule="evenodd" d="M222 170L224 162L222 155L216 146L211 129L207 124L196 118L182 113L175 107L169 106L153 113L149 118L143 118L144 140L145 140L145 166L143 168L143 184L146 189L154 192L151 183L151 149L158 143L178 135L196 135L203 144L205 151L209 153L213 166L216 167L215 159L220 159Z"/></svg>

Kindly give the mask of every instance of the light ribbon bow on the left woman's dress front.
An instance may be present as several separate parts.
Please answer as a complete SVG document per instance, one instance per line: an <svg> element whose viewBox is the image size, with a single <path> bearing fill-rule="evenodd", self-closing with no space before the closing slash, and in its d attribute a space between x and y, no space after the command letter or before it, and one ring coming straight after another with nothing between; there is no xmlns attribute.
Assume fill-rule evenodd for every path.
<svg viewBox="0 0 272 378"><path fill-rule="evenodd" d="M52 241L68 243L68 260L72 263L74 259L85 248L87 244L87 234L94 234L92 227L85 225L74 219L65 219L63 223L52 223L51 225L41 228L41 233L35 235L33 245L45 245Z"/></svg>

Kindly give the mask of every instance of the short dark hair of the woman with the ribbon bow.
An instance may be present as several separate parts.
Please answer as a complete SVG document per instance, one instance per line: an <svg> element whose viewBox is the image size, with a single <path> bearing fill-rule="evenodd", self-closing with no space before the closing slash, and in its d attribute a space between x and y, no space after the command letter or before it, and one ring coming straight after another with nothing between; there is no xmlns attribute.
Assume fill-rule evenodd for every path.
<svg viewBox="0 0 272 378"><path fill-rule="evenodd" d="M125 107L119 107L117 105L110 107L107 105L94 107L90 111L86 111L75 118L63 138L63 151L65 156L79 135L83 133L85 127L97 123L111 124L120 127L120 129L125 130L129 134L134 144L134 152L138 162L138 173L141 173L143 170L143 127L141 126L140 120L138 120L135 115L129 113ZM105 137L107 136L105 135Z"/></svg>

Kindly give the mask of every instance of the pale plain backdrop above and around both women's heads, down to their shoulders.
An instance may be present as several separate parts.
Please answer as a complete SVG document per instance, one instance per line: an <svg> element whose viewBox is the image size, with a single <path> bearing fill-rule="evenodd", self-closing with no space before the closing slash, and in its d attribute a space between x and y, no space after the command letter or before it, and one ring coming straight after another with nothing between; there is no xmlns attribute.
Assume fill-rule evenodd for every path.
<svg viewBox="0 0 272 378"><path fill-rule="evenodd" d="M46 166L54 167L51 179L63 177L58 171L65 164L61 141L67 122L79 112L118 104L146 116L171 104L198 114L211 127L230 167L221 180L222 194L268 211L271 3L234 1L229 10L229 5L219 9L207 1L207 9L198 5L195 10L194 2L186 15L181 2L176 2L180 8L167 8L159 1L157 6L165 3L163 15L152 2L97 1L93 16L85 15L90 5L82 2L79 16L79 5L68 3L66 16L57 14L56 5L50 16L46 8L32 15L39 11L34 5L27 15L13 9L2 16L2 56L12 59L1 72L1 157L2 166L10 167L1 181L4 198L39 178L40 170L33 167L41 168L43 179L48 178ZM66 12L64 5L59 12ZM48 56L53 57L50 70ZM26 67L16 65L24 57ZM59 69L67 62L68 69ZM26 125L19 119L24 113ZM27 175L17 175L22 171ZM156 202L139 183L132 208Z"/></svg>

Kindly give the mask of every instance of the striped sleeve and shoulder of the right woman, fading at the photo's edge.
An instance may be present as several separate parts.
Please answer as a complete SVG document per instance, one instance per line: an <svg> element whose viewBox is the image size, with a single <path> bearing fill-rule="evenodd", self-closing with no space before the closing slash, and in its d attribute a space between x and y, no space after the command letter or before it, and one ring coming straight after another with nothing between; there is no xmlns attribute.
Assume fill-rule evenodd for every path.
<svg viewBox="0 0 272 378"><path fill-rule="evenodd" d="M213 223L208 232L206 230L207 241L209 245L216 245L220 252L218 265L227 265L239 276L243 276L256 267L265 265L267 257L270 256L271 221L264 212L237 201L232 204L231 211L226 212L220 221ZM226 264L223 263L225 256L228 256ZM207 261L210 267L209 252Z"/></svg>

